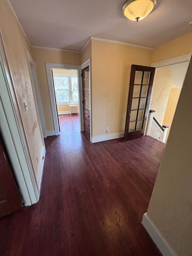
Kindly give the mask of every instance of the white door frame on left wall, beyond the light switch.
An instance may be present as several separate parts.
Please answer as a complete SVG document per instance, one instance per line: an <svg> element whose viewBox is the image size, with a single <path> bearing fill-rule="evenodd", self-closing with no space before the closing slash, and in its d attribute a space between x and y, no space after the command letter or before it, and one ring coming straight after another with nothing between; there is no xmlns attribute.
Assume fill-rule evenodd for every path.
<svg viewBox="0 0 192 256"><path fill-rule="evenodd" d="M35 100L35 108L38 116L39 128L41 131L42 142L43 142L43 145L45 146L44 138L47 137L47 134L46 134L45 120L44 120L43 108L41 104L41 97L39 92L35 62L27 50L26 50L26 57L27 57L27 65L29 68L29 75L30 75L31 84L32 84L33 97Z"/></svg>

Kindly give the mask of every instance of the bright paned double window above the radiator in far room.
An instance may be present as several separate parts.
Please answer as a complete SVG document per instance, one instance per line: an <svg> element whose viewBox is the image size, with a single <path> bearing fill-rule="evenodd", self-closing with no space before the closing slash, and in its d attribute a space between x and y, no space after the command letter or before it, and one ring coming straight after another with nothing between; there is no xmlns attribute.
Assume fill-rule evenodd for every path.
<svg viewBox="0 0 192 256"><path fill-rule="evenodd" d="M76 75L53 74L57 104L78 103L78 80Z"/></svg>

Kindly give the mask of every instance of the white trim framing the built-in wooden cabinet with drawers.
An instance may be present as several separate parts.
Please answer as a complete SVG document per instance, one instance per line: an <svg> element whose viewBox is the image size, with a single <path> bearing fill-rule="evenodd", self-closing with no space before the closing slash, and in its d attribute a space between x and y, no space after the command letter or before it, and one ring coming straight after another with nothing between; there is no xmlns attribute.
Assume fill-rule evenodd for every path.
<svg viewBox="0 0 192 256"><path fill-rule="evenodd" d="M83 64L81 64L81 69L86 68L87 66L89 66L90 141L91 141L91 143L93 143L93 137L92 137L92 104L91 104L92 103L92 92L91 92L91 58L89 58L88 60L83 62ZM82 78L81 78L81 80L82 80ZM84 131L84 129L83 129L83 131Z"/></svg>

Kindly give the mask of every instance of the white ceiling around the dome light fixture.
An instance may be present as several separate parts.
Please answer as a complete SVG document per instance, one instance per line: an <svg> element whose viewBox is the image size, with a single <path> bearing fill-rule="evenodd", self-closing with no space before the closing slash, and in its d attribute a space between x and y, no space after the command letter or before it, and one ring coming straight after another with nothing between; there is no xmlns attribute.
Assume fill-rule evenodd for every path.
<svg viewBox="0 0 192 256"><path fill-rule="evenodd" d="M10 0L32 45L80 51L90 36L156 47L192 32L191 0L158 0L139 22L122 14L124 0Z"/></svg>

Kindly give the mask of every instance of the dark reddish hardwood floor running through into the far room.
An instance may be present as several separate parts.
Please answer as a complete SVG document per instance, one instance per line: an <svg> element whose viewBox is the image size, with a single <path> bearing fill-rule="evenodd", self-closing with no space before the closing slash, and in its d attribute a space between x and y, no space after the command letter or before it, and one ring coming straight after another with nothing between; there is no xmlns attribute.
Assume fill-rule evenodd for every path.
<svg viewBox="0 0 192 256"><path fill-rule="evenodd" d="M158 256L140 224L164 143L149 136L91 144L78 115L45 139L39 203L0 218L0 255Z"/></svg>

